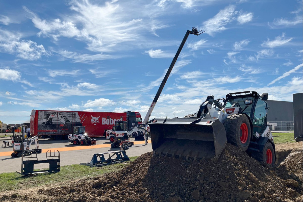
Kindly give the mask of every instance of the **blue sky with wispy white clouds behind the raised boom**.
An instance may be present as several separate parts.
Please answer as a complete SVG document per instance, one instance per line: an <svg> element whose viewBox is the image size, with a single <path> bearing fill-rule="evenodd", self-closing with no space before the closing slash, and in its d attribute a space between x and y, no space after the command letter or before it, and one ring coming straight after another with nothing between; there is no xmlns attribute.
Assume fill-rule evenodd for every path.
<svg viewBox="0 0 303 202"><path fill-rule="evenodd" d="M151 118L195 113L209 94L303 91L302 0L0 1L0 120L32 109L139 111L185 33ZM272 92L272 93L271 93Z"/></svg>

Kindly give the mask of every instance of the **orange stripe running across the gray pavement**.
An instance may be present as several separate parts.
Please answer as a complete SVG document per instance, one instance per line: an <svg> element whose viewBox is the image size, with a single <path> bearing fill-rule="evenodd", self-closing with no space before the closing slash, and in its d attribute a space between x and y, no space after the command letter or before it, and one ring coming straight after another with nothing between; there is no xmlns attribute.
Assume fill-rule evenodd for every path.
<svg viewBox="0 0 303 202"><path fill-rule="evenodd" d="M148 140L148 143L151 143L151 140ZM144 141L134 141L134 144L144 144ZM90 145L90 146L50 148L50 149L42 149L42 153L46 153L48 150L58 150L60 152L60 151L74 151L74 150L83 150L83 149L97 149L97 148L105 148L105 147L111 147L111 145L110 144L96 144L96 145ZM13 151L3 151L3 152L0 152L0 156L10 156L12 153L13 153Z"/></svg>

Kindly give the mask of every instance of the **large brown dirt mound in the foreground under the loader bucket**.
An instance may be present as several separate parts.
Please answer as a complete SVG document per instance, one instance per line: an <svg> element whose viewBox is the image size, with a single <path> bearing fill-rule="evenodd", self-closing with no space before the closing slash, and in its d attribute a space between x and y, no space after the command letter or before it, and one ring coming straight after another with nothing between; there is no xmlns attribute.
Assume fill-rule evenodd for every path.
<svg viewBox="0 0 303 202"><path fill-rule="evenodd" d="M290 158L300 169L298 155ZM302 201L302 178L288 168L288 161L293 164L293 160L268 167L231 144L218 161L152 157L150 152L107 177L41 189L30 197L3 195L0 201Z"/></svg>

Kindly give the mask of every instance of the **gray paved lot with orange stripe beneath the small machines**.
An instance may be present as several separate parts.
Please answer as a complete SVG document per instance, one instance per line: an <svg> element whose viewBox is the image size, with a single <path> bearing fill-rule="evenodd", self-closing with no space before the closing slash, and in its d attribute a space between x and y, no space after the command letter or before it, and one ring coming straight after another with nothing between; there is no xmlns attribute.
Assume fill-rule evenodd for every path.
<svg viewBox="0 0 303 202"><path fill-rule="evenodd" d="M82 146L80 144L73 145L68 140L55 141L53 139L39 139L39 149L42 149L41 154L37 154L38 160L45 160L45 154L48 150L58 150L60 152L60 166L87 163L92 160L93 154L104 153L108 151L118 151L119 148L111 148L110 141L105 137L97 137L97 144L90 146ZM148 144L145 145L144 141L135 141L132 137L131 141L134 142L134 146L129 147L126 150L128 157L140 156L147 152L152 151L150 137L148 138ZM2 141L9 141L10 137L1 137L0 146ZM10 144L11 145L11 144ZM32 143L31 149L35 148L35 143ZM21 171L21 157L13 158L11 154L13 147L0 147L0 173ZM35 154L33 154L34 156ZM24 158L26 160L26 158ZM48 168L48 164L35 164L34 169Z"/></svg>

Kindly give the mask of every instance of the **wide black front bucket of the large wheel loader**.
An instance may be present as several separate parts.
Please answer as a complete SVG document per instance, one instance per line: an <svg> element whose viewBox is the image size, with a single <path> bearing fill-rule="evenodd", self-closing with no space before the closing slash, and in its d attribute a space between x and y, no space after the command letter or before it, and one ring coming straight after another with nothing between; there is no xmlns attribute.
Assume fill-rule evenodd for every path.
<svg viewBox="0 0 303 202"><path fill-rule="evenodd" d="M218 119L154 119L149 127L152 149L159 154L218 159L227 142Z"/></svg>

